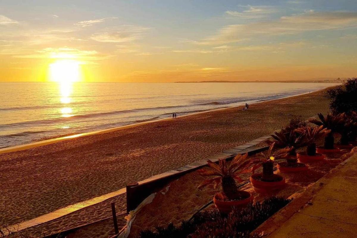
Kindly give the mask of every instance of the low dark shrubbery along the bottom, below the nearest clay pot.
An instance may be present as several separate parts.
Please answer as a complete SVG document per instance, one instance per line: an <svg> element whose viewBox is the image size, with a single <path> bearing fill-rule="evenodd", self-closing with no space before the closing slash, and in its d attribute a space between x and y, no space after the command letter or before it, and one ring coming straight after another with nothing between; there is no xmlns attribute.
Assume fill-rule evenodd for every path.
<svg viewBox="0 0 357 238"><path fill-rule="evenodd" d="M288 204L290 199L271 197L250 205L242 211L233 209L221 214L217 209L195 214L191 220L175 227L156 227L156 231L142 231L140 238L248 238L249 233L267 218Z"/></svg>

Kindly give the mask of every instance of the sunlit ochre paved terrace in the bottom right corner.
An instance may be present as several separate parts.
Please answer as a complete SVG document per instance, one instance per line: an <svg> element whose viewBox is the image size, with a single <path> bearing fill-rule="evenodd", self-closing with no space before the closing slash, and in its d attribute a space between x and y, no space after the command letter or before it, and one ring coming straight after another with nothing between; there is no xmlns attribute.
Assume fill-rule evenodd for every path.
<svg viewBox="0 0 357 238"><path fill-rule="evenodd" d="M357 154L308 188L257 231L266 238L351 238L357 234Z"/></svg>

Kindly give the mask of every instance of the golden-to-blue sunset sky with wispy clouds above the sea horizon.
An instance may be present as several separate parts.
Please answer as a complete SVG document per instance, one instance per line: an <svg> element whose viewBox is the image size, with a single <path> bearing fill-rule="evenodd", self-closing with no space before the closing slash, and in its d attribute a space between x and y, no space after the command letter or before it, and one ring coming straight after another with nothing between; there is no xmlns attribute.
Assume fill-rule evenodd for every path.
<svg viewBox="0 0 357 238"><path fill-rule="evenodd" d="M354 77L356 42L356 0L0 2L0 81Z"/></svg>

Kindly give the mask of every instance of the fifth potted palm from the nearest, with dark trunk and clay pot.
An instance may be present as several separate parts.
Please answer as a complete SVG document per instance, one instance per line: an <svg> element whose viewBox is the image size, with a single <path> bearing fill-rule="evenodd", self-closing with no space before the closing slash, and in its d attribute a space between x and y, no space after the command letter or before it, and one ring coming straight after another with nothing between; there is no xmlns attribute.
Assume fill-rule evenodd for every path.
<svg viewBox="0 0 357 238"><path fill-rule="evenodd" d="M333 134L341 124L341 115L327 114L325 117L321 113L318 113L318 118L320 120L313 118L310 119L310 122L317 126L323 126L323 128L327 128L330 132L325 136L323 147L317 147L316 152L322 154L339 152L340 149L335 147L335 137L333 137Z"/></svg>

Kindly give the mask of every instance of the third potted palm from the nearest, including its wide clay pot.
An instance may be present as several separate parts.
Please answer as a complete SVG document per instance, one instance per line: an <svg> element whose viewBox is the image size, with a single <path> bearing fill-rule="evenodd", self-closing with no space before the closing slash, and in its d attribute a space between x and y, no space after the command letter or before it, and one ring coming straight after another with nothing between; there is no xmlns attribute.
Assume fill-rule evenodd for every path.
<svg viewBox="0 0 357 238"><path fill-rule="evenodd" d="M296 150L304 145L304 137L295 129L282 129L280 132L275 132L272 137L275 139L275 145L280 148L291 148L289 154L285 157L286 161L279 162L277 168L282 173L295 173L306 171L306 164L297 162Z"/></svg>

